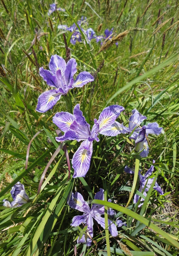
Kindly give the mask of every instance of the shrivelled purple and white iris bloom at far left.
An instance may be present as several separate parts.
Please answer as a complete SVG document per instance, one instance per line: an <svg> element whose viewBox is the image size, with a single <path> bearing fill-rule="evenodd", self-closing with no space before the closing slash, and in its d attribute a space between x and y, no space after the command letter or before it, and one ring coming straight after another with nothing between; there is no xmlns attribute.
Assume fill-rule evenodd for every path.
<svg viewBox="0 0 179 256"><path fill-rule="evenodd" d="M3 206L6 206L8 208L19 207L22 204L30 201L28 195L25 193L24 185L21 184L19 181L12 187L10 192L13 201L10 203L9 201L4 199Z"/></svg>

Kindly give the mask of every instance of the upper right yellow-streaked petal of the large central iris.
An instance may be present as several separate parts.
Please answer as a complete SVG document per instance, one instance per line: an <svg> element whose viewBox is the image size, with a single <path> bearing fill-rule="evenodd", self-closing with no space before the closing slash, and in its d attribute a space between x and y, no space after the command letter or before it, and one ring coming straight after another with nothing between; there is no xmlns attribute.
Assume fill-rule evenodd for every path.
<svg viewBox="0 0 179 256"><path fill-rule="evenodd" d="M101 131L106 127L112 125L123 110L124 108L119 105L112 105L105 108L99 115L98 119L99 133L101 133Z"/></svg>

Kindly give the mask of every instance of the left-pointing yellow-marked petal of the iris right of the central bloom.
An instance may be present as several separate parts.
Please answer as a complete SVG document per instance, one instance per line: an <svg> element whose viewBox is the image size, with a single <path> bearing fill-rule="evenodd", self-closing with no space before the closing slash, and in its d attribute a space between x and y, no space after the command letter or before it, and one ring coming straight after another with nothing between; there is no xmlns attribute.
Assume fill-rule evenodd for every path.
<svg viewBox="0 0 179 256"><path fill-rule="evenodd" d="M120 133L127 133L127 129L125 126L123 126L123 124L120 124L117 121L100 132L100 134L106 136L117 136Z"/></svg>

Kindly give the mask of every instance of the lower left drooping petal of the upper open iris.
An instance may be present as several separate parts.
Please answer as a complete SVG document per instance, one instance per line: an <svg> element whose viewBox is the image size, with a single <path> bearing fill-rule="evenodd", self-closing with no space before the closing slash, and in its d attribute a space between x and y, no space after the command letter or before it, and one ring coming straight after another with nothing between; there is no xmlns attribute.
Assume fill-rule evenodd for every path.
<svg viewBox="0 0 179 256"><path fill-rule="evenodd" d="M38 97L38 104L36 107L36 111L40 113L44 113L54 107L54 105L60 100L61 93L57 93L56 90L49 90L43 92Z"/></svg>

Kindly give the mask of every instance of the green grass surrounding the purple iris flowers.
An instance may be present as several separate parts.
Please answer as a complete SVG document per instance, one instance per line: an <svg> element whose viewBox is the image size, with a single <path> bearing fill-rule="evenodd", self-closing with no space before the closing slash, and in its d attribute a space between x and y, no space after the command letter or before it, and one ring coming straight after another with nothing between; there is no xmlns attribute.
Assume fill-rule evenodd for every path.
<svg viewBox="0 0 179 256"><path fill-rule="evenodd" d="M123 169L126 164L135 168L135 156L129 156L134 146L128 135L99 135L100 142L93 143L91 166L85 178L73 179L71 167L68 180L68 165L61 150L47 170L37 195L40 177L60 144L55 141L57 127L52 117L56 112L69 109L61 97L53 110L44 114L35 111L39 88L47 89L38 70L39 67L48 69L54 54L66 58L63 31L58 29L60 20L56 12L50 15L53 31L50 26L47 12L53 2L1 0L0 63L6 76L1 71L0 255L73 256L75 245L77 255L126 255L116 239L126 245L133 256L178 255L179 23L175 23L178 1L154 0L150 4L147 0L128 0L124 9L125 1L88 1L81 8L82 2L58 1L58 7L66 8L65 12L59 11L62 24L71 26L85 16L88 27L96 33L98 25L103 23L99 35L112 27L114 35L133 28L137 31L130 31L118 47L114 44L99 54L100 43L92 40L90 44L72 45L71 33L65 33L71 57L78 64L77 74L94 73L104 60L92 84L70 91L70 109L80 103L86 120L93 125L94 118L98 118L106 106L118 104L125 108L117 120L120 123L127 124L132 109L136 108L147 116L147 122L157 122L163 127L161 135L149 136L150 152L148 157L140 159L139 168L146 172L155 159L153 177L157 178L164 196L150 189L142 208L135 207L133 198L125 208L129 192L133 191L133 176L125 174ZM160 15L164 15L152 26L159 10ZM25 170L27 146L39 130L42 131L31 143ZM80 143L67 141L66 145L71 163ZM24 184L31 203L5 208L2 200L11 201L9 192L17 181ZM93 200L99 188L104 188L103 184L105 201L98 203L115 209L127 226L118 228L119 236L114 239L107 225L103 230L94 223L95 243L91 247L77 244L80 230L70 226L77 212L68 207L68 195L78 191L85 200ZM139 180L136 189L139 189ZM112 203L106 202L108 198Z"/></svg>

